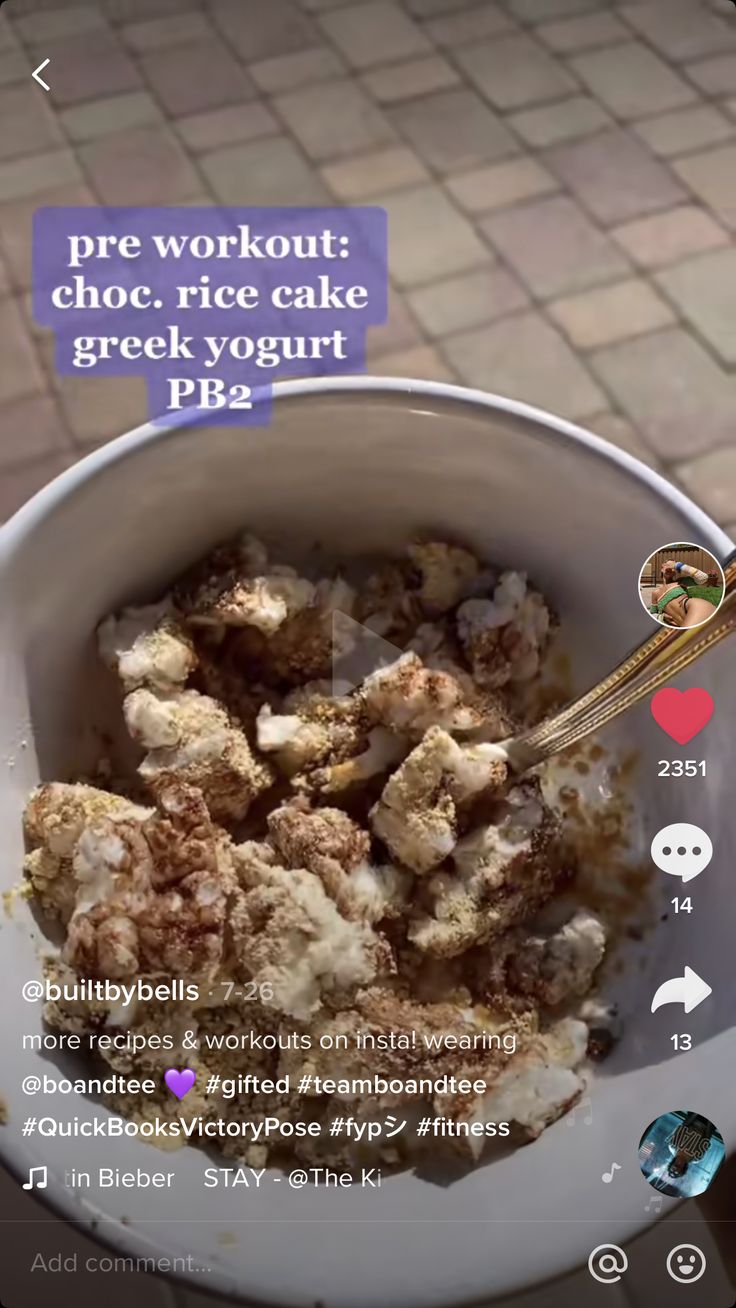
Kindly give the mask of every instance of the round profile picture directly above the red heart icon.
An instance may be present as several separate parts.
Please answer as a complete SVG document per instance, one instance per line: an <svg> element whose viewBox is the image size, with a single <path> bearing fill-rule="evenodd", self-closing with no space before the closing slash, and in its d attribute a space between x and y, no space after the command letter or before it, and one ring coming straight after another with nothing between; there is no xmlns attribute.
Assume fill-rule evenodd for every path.
<svg viewBox="0 0 736 1308"><path fill-rule="evenodd" d="M663 627L702 627L720 608L724 589L718 559L681 542L661 545L639 573L639 599Z"/></svg>

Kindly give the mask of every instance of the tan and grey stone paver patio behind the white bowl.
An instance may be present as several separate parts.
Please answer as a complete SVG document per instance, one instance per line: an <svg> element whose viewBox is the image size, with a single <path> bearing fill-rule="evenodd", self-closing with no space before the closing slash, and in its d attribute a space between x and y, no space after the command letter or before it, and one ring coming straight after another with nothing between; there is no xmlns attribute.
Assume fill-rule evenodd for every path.
<svg viewBox="0 0 736 1308"><path fill-rule="evenodd" d="M731 0L17 0L0 122L0 518L145 417L55 375L37 207L370 200L371 371L573 417L736 530Z"/></svg>

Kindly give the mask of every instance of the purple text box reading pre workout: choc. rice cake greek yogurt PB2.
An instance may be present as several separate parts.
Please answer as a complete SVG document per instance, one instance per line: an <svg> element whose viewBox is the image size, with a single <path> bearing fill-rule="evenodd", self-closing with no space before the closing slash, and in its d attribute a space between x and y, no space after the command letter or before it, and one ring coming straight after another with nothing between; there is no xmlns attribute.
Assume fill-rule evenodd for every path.
<svg viewBox="0 0 736 1308"><path fill-rule="evenodd" d="M167 422L263 424L273 381L365 371L387 315L378 208L43 208L33 259L58 371L144 375Z"/></svg>

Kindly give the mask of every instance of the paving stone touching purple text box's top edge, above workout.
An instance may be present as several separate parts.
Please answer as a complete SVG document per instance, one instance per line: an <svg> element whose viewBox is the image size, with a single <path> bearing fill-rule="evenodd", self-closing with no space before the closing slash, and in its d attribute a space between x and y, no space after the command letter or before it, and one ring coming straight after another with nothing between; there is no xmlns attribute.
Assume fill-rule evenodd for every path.
<svg viewBox="0 0 736 1308"><path fill-rule="evenodd" d="M200 166L220 204L323 204L319 177L286 136L203 154Z"/></svg>

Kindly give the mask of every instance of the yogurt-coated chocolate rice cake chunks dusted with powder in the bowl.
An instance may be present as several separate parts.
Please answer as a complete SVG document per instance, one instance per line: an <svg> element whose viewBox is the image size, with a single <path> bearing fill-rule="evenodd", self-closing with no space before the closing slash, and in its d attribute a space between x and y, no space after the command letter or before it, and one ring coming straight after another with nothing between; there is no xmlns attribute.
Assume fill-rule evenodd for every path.
<svg viewBox="0 0 736 1308"><path fill-rule="evenodd" d="M47 1023L156 1080L116 1112L239 1124L208 1142L254 1165L401 1167L533 1139L580 1097L608 923L502 744L554 625L523 573L455 544L310 578L250 535L102 621L137 769L41 785L25 871L64 933ZM366 640L390 661L346 678ZM78 986L141 978L193 989L123 1011ZM329 1134L387 1113L392 1137Z"/></svg>

